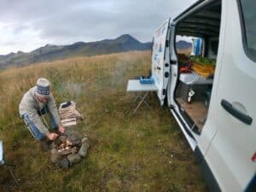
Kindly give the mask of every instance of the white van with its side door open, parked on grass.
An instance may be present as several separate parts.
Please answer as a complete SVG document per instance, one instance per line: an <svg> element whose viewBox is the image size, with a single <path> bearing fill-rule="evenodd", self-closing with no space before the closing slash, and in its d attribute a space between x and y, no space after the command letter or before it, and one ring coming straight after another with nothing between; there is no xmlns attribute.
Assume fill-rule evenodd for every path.
<svg viewBox="0 0 256 192"><path fill-rule="evenodd" d="M255 10L255 0L201 0L154 33L160 104L214 192L256 191ZM200 38L201 55L179 54L178 37Z"/></svg>

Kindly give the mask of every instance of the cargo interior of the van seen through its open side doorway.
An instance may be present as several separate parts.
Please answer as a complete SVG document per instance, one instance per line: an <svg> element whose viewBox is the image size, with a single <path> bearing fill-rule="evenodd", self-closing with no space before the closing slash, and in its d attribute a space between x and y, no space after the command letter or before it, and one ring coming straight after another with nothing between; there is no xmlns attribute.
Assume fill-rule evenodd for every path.
<svg viewBox="0 0 256 192"><path fill-rule="evenodd" d="M190 38L192 48L185 52L176 49L178 81L174 96L183 119L196 134L201 134L207 120L220 20L221 1L212 1L177 22L176 41Z"/></svg>

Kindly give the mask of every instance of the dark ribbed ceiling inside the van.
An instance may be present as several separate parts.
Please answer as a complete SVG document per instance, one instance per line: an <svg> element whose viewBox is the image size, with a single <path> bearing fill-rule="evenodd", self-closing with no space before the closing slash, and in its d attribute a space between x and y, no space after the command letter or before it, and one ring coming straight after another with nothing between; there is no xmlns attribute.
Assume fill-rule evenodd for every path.
<svg viewBox="0 0 256 192"><path fill-rule="evenodd" d="M178 35L218 37L221 16L220 0L199 0L172 20Z"/></svg>

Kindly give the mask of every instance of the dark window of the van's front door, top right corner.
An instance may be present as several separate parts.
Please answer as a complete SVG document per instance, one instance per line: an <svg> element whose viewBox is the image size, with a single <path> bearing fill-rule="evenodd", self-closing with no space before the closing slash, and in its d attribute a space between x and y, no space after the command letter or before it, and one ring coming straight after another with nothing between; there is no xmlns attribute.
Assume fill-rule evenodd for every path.
<svg viewBox="0 0 256 192"><path fill-rule="evenodd" d="M256 60L256 1L241 0L241 12L244 23L245 43L247 53Z"/></svg>

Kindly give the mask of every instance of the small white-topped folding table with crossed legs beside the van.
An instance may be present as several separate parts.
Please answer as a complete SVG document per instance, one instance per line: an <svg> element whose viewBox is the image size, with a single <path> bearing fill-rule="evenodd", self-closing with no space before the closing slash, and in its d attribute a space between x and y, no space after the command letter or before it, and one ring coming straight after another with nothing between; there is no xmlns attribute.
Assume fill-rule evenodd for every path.
<svg viewBox="0 0 256 192"><path fill-rule="evenodd" d="M149 92L157 91L155 84L141 84L139 79L130 79L127 84L127 92L136 92L137 96L133 102L136 102L138 99L137 107L133 110L133 114L137 112L137 109L144 103L148 108L150 108L148 102L146 102L146 97ZM143 94L143 95L142 95Z"/></svg>

